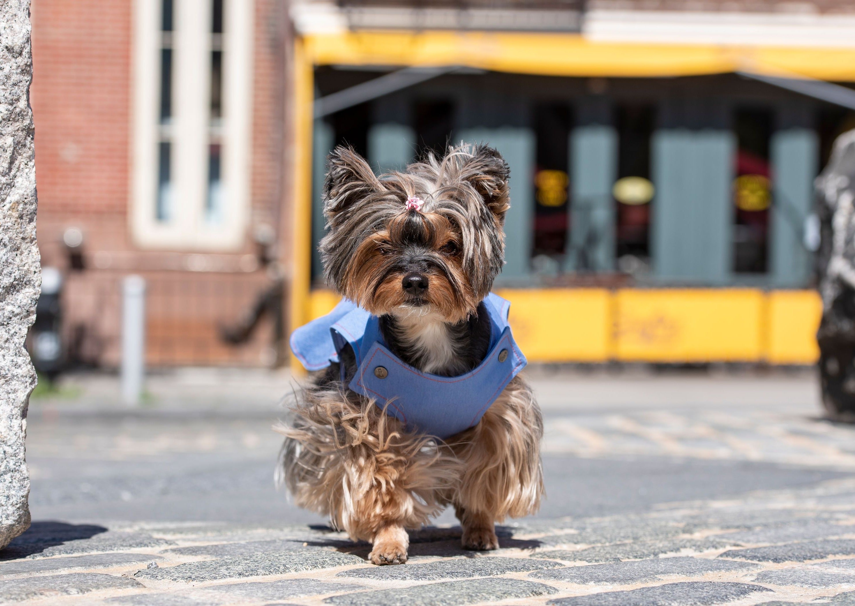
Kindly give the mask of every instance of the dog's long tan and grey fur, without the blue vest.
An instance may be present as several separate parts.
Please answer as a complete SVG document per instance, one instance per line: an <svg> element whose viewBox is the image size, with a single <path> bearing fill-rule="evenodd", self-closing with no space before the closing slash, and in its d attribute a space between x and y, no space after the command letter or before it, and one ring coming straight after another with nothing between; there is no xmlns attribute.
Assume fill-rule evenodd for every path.
<svg viewBox="0 0 855 606"><path fill-rule="evenodd" d="M386 318L386 339L416 368L454 376L486 353L467 322L501 268L507 179L504 160L486 147L455 148L441 162L428 156L379 178L352 150L330 157L330 232L321 241L327 279ZM422 212L404 209L410 196L424 198ZM401 287L414 267L430 284L423 300ZM405 562L406 530L448 505L464 547L496 549L495 522L534 513L544 492L540 409L519 376L475 427L445 441L407 431L349 390L338 368L306 385L292 419L276 429L286 437L277 480L299 506L372 542L377 564Z"/></svg>

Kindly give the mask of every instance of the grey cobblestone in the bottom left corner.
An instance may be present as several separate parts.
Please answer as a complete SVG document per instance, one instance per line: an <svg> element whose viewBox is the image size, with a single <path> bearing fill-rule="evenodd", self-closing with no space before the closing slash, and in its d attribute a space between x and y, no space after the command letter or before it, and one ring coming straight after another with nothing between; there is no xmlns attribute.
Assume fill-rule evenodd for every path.
<svg viewBox="0 0 855 606"><path fill-rule="evenodd" d="M111 574L50 574L0 580L0 598L5 602L22 602L32 597L78 596L102 589L133 589L142 586L139 581Z"/></svg>

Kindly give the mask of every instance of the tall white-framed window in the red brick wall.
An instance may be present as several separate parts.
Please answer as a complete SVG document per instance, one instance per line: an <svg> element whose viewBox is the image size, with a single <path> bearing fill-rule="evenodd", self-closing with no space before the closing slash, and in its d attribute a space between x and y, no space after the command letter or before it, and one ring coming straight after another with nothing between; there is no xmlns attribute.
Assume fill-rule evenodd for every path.
<svg viewBox="0 0 855 606"><path fill-rule="evenodd" d="M253 0L135 0L131 232L238 250L250 215Z"/></svg>

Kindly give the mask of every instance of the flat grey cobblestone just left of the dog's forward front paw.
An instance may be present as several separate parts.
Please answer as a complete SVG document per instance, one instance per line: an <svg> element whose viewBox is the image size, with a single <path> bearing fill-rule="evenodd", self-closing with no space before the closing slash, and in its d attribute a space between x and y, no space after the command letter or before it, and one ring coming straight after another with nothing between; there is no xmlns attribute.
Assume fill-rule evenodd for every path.
<svg viewBox="0 0 855 606"><path fill-rule="evenodd" d="M272 551L255 556L227 557L205 562L187 562L169 568L150 568L134 574L135 579L201 582L241 579L269 574L300 573L319 568L364 564L358 556L338 551Z"/></svg>

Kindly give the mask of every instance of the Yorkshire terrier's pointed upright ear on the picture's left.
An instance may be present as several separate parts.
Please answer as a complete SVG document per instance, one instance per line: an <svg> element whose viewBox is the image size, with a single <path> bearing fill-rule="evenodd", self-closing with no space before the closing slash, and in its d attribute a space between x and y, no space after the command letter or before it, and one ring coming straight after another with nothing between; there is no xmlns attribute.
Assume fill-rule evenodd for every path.
<svg viewBox="0 0 855 606"><path fill-rule="evenodd" d="M383 186L369 163L352 147L339 145L327 157L327 178L323 184L323 212L327 218L381 189Z"/></svg>

